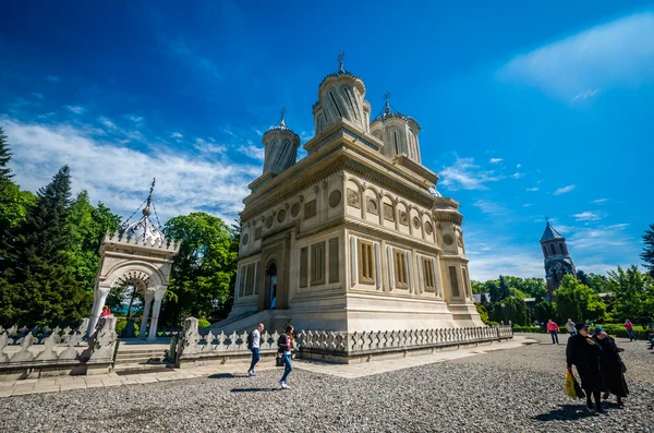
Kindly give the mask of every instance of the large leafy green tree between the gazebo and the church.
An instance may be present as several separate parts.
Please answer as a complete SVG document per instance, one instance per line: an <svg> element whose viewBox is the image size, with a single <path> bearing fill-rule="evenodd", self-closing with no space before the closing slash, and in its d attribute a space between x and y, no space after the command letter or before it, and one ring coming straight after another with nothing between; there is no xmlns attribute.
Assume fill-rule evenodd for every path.
<svg viewBox="0 0 654 433"><path fill-rule="evenodd" d="M171 218L164 233L180 242L164 308L166 321L177 325L185 315L211 321L227 316L237 273L237 229L196 212Z"/></svg>

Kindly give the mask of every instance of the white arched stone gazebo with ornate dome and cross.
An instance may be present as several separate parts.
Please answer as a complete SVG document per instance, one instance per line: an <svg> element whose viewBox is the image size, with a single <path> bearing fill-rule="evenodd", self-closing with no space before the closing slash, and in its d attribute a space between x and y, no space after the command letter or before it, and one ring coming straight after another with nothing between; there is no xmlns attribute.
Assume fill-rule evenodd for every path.
<svg viewBox="0 0 654 433"><path fill-rule="evenodd" d="M168 288L168 278L173 257L179 252L179 244L167 240L161 229L150 220L153 212L156 215L154 188L153 180L141 219L131 224L128 219L118 232L107 232L100 244L100 267L96 276L88 335L95 330L109 291L114 287L131 285L144 300L138 338L147 337L149 341L157 338L161 300Z"/></svg>

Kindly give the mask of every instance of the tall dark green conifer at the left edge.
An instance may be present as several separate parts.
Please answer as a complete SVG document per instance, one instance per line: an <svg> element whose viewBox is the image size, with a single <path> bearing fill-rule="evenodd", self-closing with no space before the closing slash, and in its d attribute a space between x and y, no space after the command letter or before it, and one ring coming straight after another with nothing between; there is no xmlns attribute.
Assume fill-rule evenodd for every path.
<svg viewBox="0 0 654 433"><path fill-rule="evenodd" d="M62 167L41 188L25 221L2 245L2 325L73 325L88 313L93 296L71 273L70 171Z"/></svg>

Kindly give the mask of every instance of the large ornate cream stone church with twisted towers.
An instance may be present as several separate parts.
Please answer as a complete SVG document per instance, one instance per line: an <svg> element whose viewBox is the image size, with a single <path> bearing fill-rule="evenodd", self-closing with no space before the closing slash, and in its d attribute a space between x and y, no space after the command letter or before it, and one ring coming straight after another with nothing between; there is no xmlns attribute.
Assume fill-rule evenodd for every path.
<svg viewBox="0 0 654 433"><path fill-rule="evenodd" d="M313 117L300 161L283 113L263 136L227 321L259 313L272 328L340 332L483 326L463 217L421 163L419 123L388 101L371 122L365 85L342 62L319 84Z"/></svg>

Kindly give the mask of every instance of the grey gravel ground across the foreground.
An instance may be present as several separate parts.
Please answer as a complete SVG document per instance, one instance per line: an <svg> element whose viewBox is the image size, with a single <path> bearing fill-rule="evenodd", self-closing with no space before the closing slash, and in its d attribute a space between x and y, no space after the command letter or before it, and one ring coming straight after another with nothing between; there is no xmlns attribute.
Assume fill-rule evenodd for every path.
<svg viewBox="0 0 654 433"><path fill-rule="evenodd" d="M2 432L654 432L654 354L621 345L631 396L591 414L564 394L565 339L347 380L256 377L78 389L0 400Z"/></svg>

